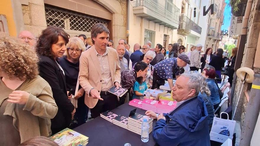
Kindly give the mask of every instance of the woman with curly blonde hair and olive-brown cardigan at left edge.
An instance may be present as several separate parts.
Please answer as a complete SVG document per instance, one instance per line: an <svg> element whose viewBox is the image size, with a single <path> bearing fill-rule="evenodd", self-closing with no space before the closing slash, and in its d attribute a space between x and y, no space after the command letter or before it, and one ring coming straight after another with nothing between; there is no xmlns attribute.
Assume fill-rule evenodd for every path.
<svg viewBox="0 0 260 146"><path fill-rule="evenodd" d="M0 145L51 135L58 107L29 46L0 33Z"/></svg>

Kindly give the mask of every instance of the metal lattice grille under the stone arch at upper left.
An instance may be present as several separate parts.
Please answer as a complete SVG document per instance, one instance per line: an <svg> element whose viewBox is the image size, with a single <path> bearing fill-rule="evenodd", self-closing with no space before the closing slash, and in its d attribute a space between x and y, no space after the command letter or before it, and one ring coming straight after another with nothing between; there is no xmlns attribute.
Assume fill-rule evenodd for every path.
<svg viewBox="0 0 260 146"><path fill-rule="evenodd" d="M45 7L45 17L47 26L56 25L57 27L68 30L91 32L91 28L94 24L102 23L108 26L108 21L106 20L89 17L50 6Z"/></svg>

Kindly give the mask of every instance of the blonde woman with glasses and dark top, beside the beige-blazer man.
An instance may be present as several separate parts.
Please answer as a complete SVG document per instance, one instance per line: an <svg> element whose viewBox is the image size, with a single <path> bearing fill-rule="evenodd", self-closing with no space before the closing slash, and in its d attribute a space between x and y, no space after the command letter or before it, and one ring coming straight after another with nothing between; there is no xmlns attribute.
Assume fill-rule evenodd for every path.
<svg viewBox="0 0 260 146"><path fill-rule="evenodd" d="M70 38L64 56L59 59L59 64L65 73L67 89L74 95L74 99L78 99L78 108L74 116L74 119L78 122L77 126L86 122L88 111L88 107L84 103L85 91L80 85L78 92L75 94L79 76L79 57L85 51L86 47L84 46L84 43L78 37Z"/></svg>

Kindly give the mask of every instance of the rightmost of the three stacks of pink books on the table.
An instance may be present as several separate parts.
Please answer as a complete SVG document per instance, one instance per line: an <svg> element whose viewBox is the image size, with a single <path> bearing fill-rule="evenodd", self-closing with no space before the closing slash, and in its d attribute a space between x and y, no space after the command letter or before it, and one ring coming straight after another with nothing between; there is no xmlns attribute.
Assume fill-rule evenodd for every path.
<svg viewBox="0 0 260 146"><path fill-rule="evenodd" d="M157 104L157 113L169 113L176 108L177 101L160 100Z"/></svg>

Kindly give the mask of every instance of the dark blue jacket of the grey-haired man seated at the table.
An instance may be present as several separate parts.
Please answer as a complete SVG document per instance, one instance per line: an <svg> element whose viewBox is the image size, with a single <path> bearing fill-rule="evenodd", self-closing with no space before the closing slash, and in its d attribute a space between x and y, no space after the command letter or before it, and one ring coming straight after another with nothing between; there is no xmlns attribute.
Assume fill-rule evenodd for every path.
<svg viewBox="0 0 260 146"><path fill-rule="evenodd" d="M185 101L165 119L157 121L154 140L161 146L210 146L208 112L204 101L194 97Z"/></svg>

